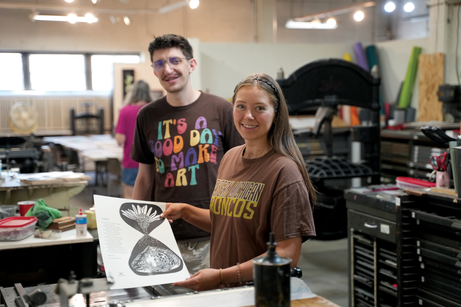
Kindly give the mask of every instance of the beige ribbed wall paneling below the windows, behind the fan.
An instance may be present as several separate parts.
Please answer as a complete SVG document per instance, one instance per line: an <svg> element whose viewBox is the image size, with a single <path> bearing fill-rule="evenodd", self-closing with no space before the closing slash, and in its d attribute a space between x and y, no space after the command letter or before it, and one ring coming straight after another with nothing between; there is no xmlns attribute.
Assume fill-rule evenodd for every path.
<svg viewBox="0 0 461 307"><path fill-rule="evenodd" d="M0 136L14 135L8 124L8 116L13 104L23 101L29 103L37 113L37 129L34 135L71 135L70 107L75 107L75 112L83 112L82 102L92 102L90 113L97 113L98 107L104 107L104 130L111 129L111 99L110 97L97 96L2 96L0 97ZM90 122L90 128L96 130L96 122ZM77 123L77 130L84 130L85 123ZM92 127L92 126L95 127ZM94 128L94 129L93 129Z"/></svg>

